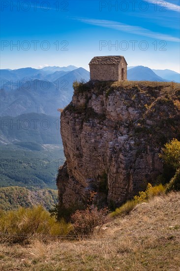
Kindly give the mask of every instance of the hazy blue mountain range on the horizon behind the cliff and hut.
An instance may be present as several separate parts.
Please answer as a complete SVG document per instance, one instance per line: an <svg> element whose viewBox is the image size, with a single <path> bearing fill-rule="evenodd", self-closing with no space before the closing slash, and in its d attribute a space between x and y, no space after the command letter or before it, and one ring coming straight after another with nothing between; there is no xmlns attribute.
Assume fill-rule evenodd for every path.
<svg viewBox="0 0 180 271"><path fill-rule="evenodd" d="M75 66L1 69L0 76L0 115L14 117L31 112L58 117L57 109L65 107L71 101L73 82L90 80L88 70ZM180 82L180 74L167 69L152 70L137 66L128 67L127 79Z"/></svg>

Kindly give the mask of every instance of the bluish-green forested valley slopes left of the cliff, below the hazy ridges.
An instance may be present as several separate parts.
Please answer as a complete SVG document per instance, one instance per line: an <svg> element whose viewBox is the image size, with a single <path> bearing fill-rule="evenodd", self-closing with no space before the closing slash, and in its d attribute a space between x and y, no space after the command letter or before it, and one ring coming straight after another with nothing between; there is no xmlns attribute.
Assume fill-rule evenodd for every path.
<svg viewBox="0 0 180 271"><path fill-rule="evenodd" d="M63 161L61 145L19 142L0 146L0 187L56 189L57 170Z"/></svg>

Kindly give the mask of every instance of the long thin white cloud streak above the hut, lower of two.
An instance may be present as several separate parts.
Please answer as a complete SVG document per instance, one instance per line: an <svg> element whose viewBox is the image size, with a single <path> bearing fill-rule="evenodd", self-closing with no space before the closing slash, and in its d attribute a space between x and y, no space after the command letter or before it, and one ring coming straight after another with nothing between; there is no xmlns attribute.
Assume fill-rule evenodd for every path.
<svg viewBox="0 0 180 271"><path fill-rule="evenodd" d="M156 38L156 39L161 39L161 40L163 39L166 41L180 42L180 38L178 37L174 37L167 34L161 34L157 32L152 32L142 27L126 25L120 22L108 21L108 20L86 19L86 18L81 18L81 17L75 17L73 19L81 21L86 24L105 27L105 28L111 28L111 29L123 31L126 33L148 36L151 38Z"/></svg>

